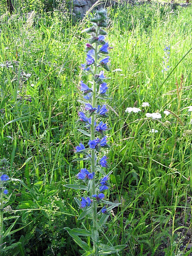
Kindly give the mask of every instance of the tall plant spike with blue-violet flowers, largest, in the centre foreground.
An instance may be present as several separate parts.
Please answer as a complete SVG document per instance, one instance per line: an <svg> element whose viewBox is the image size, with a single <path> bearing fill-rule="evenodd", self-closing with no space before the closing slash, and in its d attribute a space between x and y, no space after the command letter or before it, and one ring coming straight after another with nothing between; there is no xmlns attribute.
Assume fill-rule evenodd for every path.
<svg viewBox="0 0 192 256"><path fill-rule="evenodd" d="M65 228L75 242L84 250L84 256L118 253L126 246L113 245L117 236L111 237L113 241L111 242L111 239L109 240L104 232L104 225L111 209L119 205L105 200L106 192L110 187L109 179L111 174L111 172L106 173L109 165L107 156L103 153L104 148L110 148L105 135L109 129L105 123L108 117L108 108L106 104L103 104L108 90L104 70L109 71L108 50L111 48L105 41L107 33L103 29L107 27L107 12L105 10L98 11L91 18L91 22L92 27L84 30L91 35L91 38L85 48L87 52L86 63L81 66L85 75L92 76L92 81L90 82L91 85L80 81L79 89L83 98L80 102L83 106L82 111L78 113L78 123L81 124L81 129L78 129L78 131L88 136L89 141L87 141L86 145L79 143L75 151L76 154L84 155L84 157L77 158L76 161L84 161L86 168L82 168L76 174L76 178L83 184L66 185L68 188L86 191L86 196L82 196L81 200L75 199L79 209L82 209L78 220L82 220L86 216L86 219L90 220L89 230ZM101 239L100 234L105 239ZM88 241L91 240L91 243L87 244L80 236L90 237ZM103 240L107 241L108 244L103 244Z"/></svg>

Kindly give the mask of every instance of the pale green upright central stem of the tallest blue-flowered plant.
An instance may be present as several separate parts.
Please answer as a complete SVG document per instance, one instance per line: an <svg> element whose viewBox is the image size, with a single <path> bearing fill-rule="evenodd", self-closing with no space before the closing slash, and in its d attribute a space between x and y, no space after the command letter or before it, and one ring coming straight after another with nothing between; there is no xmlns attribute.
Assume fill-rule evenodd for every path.
<svg viewBox="0 0 192 256"><path fill-rule="evenodd" d="M98 28L96 30L96 37L98 36ZM94 67L94 74L93 74L93 96L92 96L92 107L95 108L96 105L96 82L95 82L95 75L97 74L97 58L98 58L98 43L95 43L95 67ZM91 140L95 139L95 116L92 115L91 117ZM92 149L91 152L91 171L95 172L95 149ZM92 184L92 195L95 194L95 177L93 178L93 184ZM95 236L93 240L93 249L95 251L95 256L97 256L97 244L96 241L98 240L98 232L97 232L97 203L95 200L93 200L93 229L95 231Z"/></svg>

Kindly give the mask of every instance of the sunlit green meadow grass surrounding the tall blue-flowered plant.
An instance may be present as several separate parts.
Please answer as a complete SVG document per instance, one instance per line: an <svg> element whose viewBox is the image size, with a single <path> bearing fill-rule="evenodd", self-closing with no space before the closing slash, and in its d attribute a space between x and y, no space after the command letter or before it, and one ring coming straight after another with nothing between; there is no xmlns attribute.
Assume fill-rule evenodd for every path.
<svg viewBox="0 0 192 256"><path fill-rule="evenodd" d="M191 6L171 10L155 3L108 8L108 41L114 47L108 81L110 199L122 206L111 213L106 235L118 234L119 243L127 243L122 255L190 253L185 245L191 243L191 12ZM83 163L72 162L73 149L87 142L76 131L85 22L58 11L34 13L31 20L21 13L0 16L0 62L13 66L0 68L0 154L10 161L9 175L27 186L17 180L10 185L12 208L39 209L20 212L18 226L33 221L28 231L14 235L25 236L26 255L42 255L39 248L44 255L54 255L51 248L56 255L78 255L63 227L89 228L88 220L76 221L79 192L63 187L77 182ZM165 45L170 68L162 72ZM21 77L23 71L31 76ZM142 102L150 107L141 108ZM142 111L125 112L133 106ZM165 116L165 109L172 114ZM162 119L147 119L146 112L160 112ZM29 244L36 246L29 250Z"/></svg>

